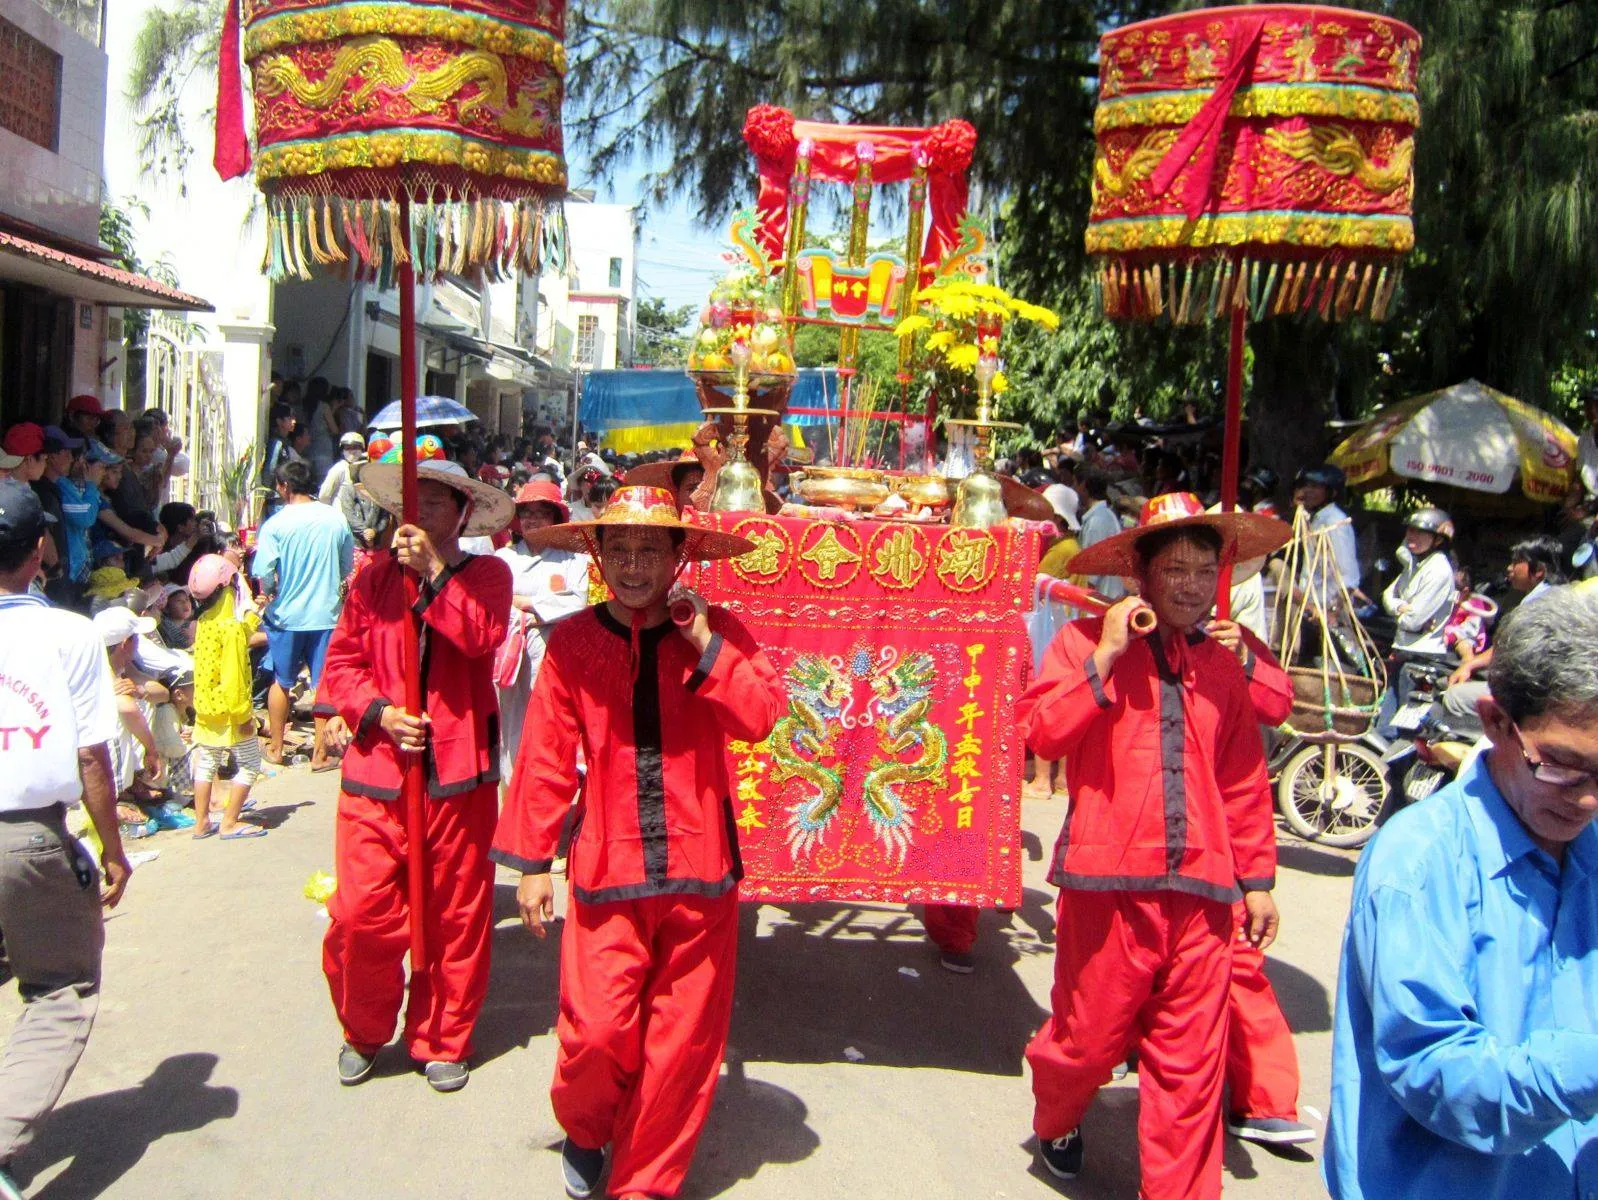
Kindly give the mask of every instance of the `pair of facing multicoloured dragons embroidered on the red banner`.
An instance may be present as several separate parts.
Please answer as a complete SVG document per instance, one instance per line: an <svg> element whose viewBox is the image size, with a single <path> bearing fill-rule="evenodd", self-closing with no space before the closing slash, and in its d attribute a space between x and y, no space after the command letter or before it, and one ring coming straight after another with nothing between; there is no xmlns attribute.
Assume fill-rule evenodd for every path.
<svg viewBox="0 0 1598 1200"><path fill-rule="evenodd" d="M844 775L823 767L836 756L839 732L868 725L876 746L861 786L873 837L888 861L903 864L914 837L916 809L906 789L916 783L946 781L948 740L927 717L936 665L928 654L901 657L885 649L874 662L857 650L842 658L799 655L788 668L788 714L772 730L773 780L804 780L807 794L788 809L788 847L796 861L810 858L826 842L841 817ZM871 698L860 716L849 713L855 681L866 681ZM904 754L914 757L904 759Z"/></svg>

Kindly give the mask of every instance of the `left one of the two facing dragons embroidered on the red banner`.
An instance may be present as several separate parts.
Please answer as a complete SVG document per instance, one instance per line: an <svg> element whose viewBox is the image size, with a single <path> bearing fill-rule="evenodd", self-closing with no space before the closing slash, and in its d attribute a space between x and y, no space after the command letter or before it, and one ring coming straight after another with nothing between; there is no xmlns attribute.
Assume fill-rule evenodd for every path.
<svg viewBox="0 0 1598 1200"><path fill-rule="evenodd" d="M772 729L772 781L804 780L810 794L788 807L788 848L794 860L809 858L837 820L844 778L817 759L831 749L829 722L844 714L853 684L842 663L802 654L788 668L788 713Z"/></svg>

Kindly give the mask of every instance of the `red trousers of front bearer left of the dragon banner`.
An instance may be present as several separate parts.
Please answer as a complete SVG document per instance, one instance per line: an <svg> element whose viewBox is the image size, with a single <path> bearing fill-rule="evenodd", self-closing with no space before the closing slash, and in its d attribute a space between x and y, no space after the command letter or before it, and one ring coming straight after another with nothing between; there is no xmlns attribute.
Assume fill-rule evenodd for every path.
<svg viewBox="0 0 1598 1200"><path fill-rule="evenodd" d="M550 1099L574 1142L610 1146L610 1195L682 1187L716 1098L737 965L737 890L570 900Z"/></svg>

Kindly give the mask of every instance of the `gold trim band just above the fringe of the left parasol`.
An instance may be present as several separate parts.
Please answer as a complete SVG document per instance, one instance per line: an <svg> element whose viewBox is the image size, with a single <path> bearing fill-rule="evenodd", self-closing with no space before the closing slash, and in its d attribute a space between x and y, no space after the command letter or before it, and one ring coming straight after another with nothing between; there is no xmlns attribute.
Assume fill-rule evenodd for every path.
<svg viewBox="0 0 1598 1200"><path fill-rule="evenodd" d="M430 129L336 134L318 141L265 145L256 155L256 182L302 179L324 171L382 171L406 163L455 166L479 176L548 187L566 185L566 163L553 150L518 150Z"/></svg>

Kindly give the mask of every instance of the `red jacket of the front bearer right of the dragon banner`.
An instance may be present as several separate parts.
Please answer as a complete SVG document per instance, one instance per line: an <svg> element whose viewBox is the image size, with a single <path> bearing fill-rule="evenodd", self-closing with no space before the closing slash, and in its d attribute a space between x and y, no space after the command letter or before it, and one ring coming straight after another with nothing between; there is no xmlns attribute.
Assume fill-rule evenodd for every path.
<svg viewBox="0 0 1598 1200"><path fill-rule="evenodd" d="M1050 882L1234 901L1275 882L1264 746L1237 657L1202 634L1138 638L1107 679L1101 618L1064 626L1016 706L1032 751L1064 759L1071 813Z"/></svg>

